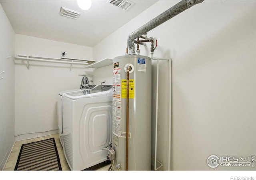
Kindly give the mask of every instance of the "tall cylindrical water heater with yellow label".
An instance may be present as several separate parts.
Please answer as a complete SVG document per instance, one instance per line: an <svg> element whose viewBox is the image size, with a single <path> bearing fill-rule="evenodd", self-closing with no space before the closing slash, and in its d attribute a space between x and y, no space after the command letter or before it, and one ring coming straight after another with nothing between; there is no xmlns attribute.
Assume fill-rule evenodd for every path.
<svg viewBox="0 0 256 180"><path fill-rule="evenodd" d="M113 66L113 170L151 170L151 58L140 55L118 56L113 59Z"/></svg>

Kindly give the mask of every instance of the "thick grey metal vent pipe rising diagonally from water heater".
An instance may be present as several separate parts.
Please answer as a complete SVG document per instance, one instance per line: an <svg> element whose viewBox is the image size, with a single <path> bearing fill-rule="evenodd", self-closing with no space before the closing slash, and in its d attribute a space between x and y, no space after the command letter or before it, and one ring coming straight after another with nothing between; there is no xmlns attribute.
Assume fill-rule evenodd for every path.
<svg viewBox="0 0 256 180"><path fill-rule="evenodd" d="M135 54L135 46L134 46L134 40L146 32L156 28L160 24L166 22L170 18L173 18L174 16L180 14L184 10L203 2L203 0L182 0L178 2L176 5L172 6L162 14L158 15L156 18L150 20L148 23L144 24L131 34L129 34L127 38L127 44L129 48L129 54Z"/></svg>

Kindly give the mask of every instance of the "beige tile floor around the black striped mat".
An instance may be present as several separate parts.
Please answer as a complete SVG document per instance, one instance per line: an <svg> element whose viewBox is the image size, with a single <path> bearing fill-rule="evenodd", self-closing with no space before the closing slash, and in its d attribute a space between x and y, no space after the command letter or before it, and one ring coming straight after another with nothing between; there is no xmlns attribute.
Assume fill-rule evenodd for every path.
<svg viewBox="0 0 256 180"><path fill-rule="evenodd" d="M58 134L53 134L53 135L49 135L49 136L43 136L43 137L40 137L40 138L33 138L33 139L28 139L28 140L22 140L22 141L15 142L14 147L12 149L12 152L11 152L11 154L10 154L8 160L7 160L7 163L4 167L4 171L14 170L22 144L35 142L35 141L40 141L40 140L49 139L49 138L54 138L55 139L58 154L59 154L59 157L60 157L60 164L61 164L62 170L63 171L70 171L70 168L69 168L68 163L66 162L66 158L64 156L63 148L60 144ZM97 170L107 171L109 167L110 167L110 165L108 164L108 165L106 165L102 168L99 168Z"/></svg>

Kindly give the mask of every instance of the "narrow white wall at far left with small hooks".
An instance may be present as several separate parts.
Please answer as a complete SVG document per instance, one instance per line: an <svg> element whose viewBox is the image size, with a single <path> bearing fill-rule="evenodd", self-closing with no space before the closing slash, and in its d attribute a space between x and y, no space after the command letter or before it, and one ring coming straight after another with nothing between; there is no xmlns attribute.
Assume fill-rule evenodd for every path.
<svg viewBox="0 0 256 180"><path fill-rule="evenodd" d="M14 145L14 42L15 33L0 5L0 170ZM8 58L8 55L11 56Z"/></svg>

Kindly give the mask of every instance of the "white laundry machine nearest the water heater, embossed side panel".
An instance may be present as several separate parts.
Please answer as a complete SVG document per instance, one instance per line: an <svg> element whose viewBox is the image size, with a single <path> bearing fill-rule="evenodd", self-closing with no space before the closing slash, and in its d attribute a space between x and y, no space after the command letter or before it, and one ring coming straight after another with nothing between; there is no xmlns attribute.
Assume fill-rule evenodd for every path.
<svg viewBox="0 0 256 180"><path fill-rule="evenodd" d="M112 143L112 86L66 93L62 109L63 149L70 169L108 161L102 148Z"/></svg>

